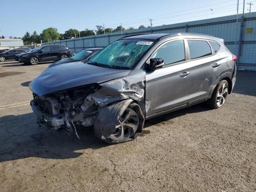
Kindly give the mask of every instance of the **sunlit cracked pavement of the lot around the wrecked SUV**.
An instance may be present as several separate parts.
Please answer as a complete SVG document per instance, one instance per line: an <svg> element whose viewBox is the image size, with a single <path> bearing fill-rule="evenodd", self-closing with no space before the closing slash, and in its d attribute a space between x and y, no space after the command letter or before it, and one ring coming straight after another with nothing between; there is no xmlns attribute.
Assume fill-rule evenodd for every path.
<svg viewBox="0 0 256 192"><path fill-rule="evenodd" d="M132 142L81 140L36 124L28 83L49 63L0 63L0 192L256 191L256 72L238 72L218 110L203 104L146 121Z"/></svg>

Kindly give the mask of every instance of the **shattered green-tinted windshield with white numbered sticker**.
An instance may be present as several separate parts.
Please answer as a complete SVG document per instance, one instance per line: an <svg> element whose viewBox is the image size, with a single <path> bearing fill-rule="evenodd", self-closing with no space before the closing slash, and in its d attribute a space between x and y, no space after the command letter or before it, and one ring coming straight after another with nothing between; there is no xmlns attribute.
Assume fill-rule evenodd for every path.
<svg viewBox="0 0 256 192"><path fill-rule="evenodd" d="M153 44L153 41L145 39L119 40L90 58L88 64L113 69L131 69Z"/></svg>

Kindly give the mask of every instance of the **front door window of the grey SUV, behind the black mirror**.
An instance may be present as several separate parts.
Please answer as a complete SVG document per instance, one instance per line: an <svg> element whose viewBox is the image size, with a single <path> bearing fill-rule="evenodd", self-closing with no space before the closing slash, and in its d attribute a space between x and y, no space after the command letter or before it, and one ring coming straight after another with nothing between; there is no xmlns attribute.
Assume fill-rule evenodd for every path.
<svg viewBox="0 0 256 192"><path fill-rule="evenodd" d="M178 40L164 44L151 58L163 59L164 65L185 61L184 41Z"/></svg>

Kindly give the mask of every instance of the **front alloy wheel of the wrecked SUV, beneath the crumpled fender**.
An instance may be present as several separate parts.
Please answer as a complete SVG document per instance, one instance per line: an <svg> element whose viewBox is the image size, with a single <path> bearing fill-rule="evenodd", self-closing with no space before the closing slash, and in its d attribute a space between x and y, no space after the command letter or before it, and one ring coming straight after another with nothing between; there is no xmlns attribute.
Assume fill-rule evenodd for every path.
<svg viewBox="0 0 256 192"><path fill-rule="evenodd" d="M113 140L123 140L134 135L139 126L139 118L134 110L127 108L116 124L116 131L110 135Z"/></svg>

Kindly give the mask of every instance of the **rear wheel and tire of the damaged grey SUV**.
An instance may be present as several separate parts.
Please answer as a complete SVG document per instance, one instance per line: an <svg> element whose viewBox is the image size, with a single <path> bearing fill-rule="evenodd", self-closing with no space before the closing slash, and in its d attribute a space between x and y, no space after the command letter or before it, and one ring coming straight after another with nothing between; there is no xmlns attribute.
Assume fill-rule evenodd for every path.
<svg viewBox="0 0 256 192"><path fill-rule="evenodd" d="M228 82L220 81L212 93L212 97L206 101L206 105L212 109L218 109L223 106L228 96Z"/></svg>

